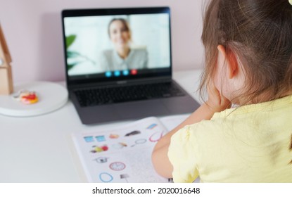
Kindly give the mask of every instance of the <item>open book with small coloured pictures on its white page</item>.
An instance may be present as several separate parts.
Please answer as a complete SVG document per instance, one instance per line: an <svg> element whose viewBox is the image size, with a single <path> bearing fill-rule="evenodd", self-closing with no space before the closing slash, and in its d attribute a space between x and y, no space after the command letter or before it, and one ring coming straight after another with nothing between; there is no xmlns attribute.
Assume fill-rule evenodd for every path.
<svg viewBox="0 0 292 197"><path fill-rule="evenodd" d="M122 127L73 134L88 182L170 182L153 169L151 153L188 116L146 117Z"/></svg>

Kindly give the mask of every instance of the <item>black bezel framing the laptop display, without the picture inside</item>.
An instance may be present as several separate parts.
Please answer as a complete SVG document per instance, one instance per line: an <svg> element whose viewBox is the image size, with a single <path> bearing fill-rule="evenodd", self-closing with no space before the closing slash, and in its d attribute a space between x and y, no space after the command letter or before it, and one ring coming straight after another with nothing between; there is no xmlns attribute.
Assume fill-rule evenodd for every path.
<svg viewBox="0 0 292 197"><path fill-rule="evenodd" d="M115 83L127 80L143 80L148 78L171 78L172 76L172 44L171 44L171 27L169 28L170 35L170 67L168 68L151 68L139 70L137 75L128 75L120 77L104 77L104 73L90 74L90 75L68 75L67 66L67 52L65 43L65 24L66 17L80 17L80 16L99 16L99 15L132 15L132 14L153 14L153 13L167 13L170 23L170 8L169 7L148 7L148 8L96 8L96 9L66 9L62 11L62 25L63 25L63 49L65 57L65 75L68 85L80 84L97 84L97 83Z"/></svg>

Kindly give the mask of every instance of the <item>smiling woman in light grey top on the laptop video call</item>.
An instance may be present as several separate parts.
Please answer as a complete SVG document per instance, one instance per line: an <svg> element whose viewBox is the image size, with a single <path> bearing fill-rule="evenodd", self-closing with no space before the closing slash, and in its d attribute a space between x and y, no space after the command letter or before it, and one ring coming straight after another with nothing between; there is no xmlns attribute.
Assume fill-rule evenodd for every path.
<svg viewBox="0 0 292 197"><path fill-rule="evenodd" d="M101 55L101 66L108 70L143 69L148 65L146 48L131 48L132 34L129 24L123 18L114 18L108 24L108 35L113 43L113 50L106 50Z"/></svg>

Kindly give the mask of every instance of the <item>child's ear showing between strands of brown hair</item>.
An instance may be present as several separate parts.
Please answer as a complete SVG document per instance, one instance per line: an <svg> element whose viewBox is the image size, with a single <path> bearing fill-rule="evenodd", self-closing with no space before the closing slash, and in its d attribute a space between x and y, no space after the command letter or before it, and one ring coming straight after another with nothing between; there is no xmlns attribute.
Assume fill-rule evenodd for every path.
<svg viewBox="0 0 292 197"><path fill-rule="evenodd" d="M218 45L219 56L224 60L224 64L227 65L227 76L232 79L237 75L239 71L239 64L233 51L227 51L222 45Z"/></svg>

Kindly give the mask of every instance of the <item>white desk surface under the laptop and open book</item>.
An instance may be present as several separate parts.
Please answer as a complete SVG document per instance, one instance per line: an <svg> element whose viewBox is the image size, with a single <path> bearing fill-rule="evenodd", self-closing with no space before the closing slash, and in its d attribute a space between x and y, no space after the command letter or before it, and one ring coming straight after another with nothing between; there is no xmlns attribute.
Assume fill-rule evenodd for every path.
<svg viewBox="0 0 292 197"><path fill-rule="evenodd" d="M200 75L201 70L179 71L174 79L200 101L196 92ZM36 117L0 115L0 182L82 182L70 134L125 123L82 125L70 101Z"/></svg>

